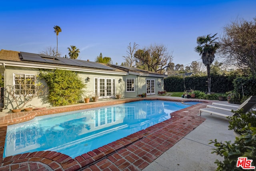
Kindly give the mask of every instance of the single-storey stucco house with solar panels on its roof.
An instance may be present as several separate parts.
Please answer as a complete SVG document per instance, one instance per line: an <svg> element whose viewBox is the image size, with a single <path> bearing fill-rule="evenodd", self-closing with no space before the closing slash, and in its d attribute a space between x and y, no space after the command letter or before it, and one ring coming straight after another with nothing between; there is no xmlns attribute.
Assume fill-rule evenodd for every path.
<svg viewBox="0 0 256 171"><path fill-rule="evenodd" d="M18 92L20 90L17 79L31 78L34 82L37 82L36 75L44 69L78 72L78 75L86 84L86 90L100 95L100 99L115 98L117 93L122 94L122 97L137 97L138 94L142 93L154 95L156 92L164 90L163 78L167 77L164 74L152 73L137 68L10 50L0 50L0 65L2 65L1 71L3 72L1 74L4 75L5 109L16 107L14 99L6 92L8 85L14 85ZM40 82L47 86L44 80L40 80ZM50 106L51 104L47 101L46 96L36 97L28 105L36 107Z"/></svg>

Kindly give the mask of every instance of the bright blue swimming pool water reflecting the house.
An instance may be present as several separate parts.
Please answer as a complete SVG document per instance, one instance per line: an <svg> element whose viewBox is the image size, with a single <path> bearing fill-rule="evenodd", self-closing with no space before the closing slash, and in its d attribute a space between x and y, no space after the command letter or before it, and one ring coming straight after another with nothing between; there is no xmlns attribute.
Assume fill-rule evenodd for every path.
<svg viewBox="0 0 256 171"><path fill-rule="evenodd" d="M35 117L8 125L4 157L57 151L74 158L169 119L170 113L189 106L172 101L137 101Z"/></svg>

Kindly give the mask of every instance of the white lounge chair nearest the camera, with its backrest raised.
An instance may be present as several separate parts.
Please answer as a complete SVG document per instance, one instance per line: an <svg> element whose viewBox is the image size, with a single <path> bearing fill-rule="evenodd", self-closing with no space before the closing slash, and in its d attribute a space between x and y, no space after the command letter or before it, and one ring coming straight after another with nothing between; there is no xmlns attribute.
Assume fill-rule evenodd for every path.
<svg viewBox="0 0 256 171"><path fill-rule="evenodd" d="M210 107L211 105L207 105L207 106ZM242 103L239 107L237 107L237 109L233 109L233 110L236 111L239 109L243 109L244 112L246 113L250 109L252 109L254 106L256 106L256 95L249 97L246 101L244 101L244 103ZM214 106L212 105L212 107L214 107ZM211 113L211 114L221 115L221 116L237 115L236 112L234 112L234 113L231 112L232 109L229 110L230 108L231 108L230 106L221 106L220 107L220 105L218 106L218 108L202 108L202 109L200 109L200 116L201 116L202 111Z"/></svg>

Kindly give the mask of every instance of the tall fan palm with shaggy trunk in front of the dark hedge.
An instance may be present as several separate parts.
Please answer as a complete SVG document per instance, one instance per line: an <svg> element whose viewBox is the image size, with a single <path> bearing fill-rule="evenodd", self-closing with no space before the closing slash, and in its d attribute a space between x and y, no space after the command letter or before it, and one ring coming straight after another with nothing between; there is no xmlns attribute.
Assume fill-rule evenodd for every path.
<svg viewBox="0 0 256 171"><path fill-rule="evenodd" d="M199 36L196 39L196 46L195 51L199 53L202 57L202 62L207 68L207 78L208 78L208 93L211 93L211 77L210 77L210 65L214 61L216 50L219 48L219 43L216 42L218 38L214 38L217 35L214 34L210 36Z"/></svg>

